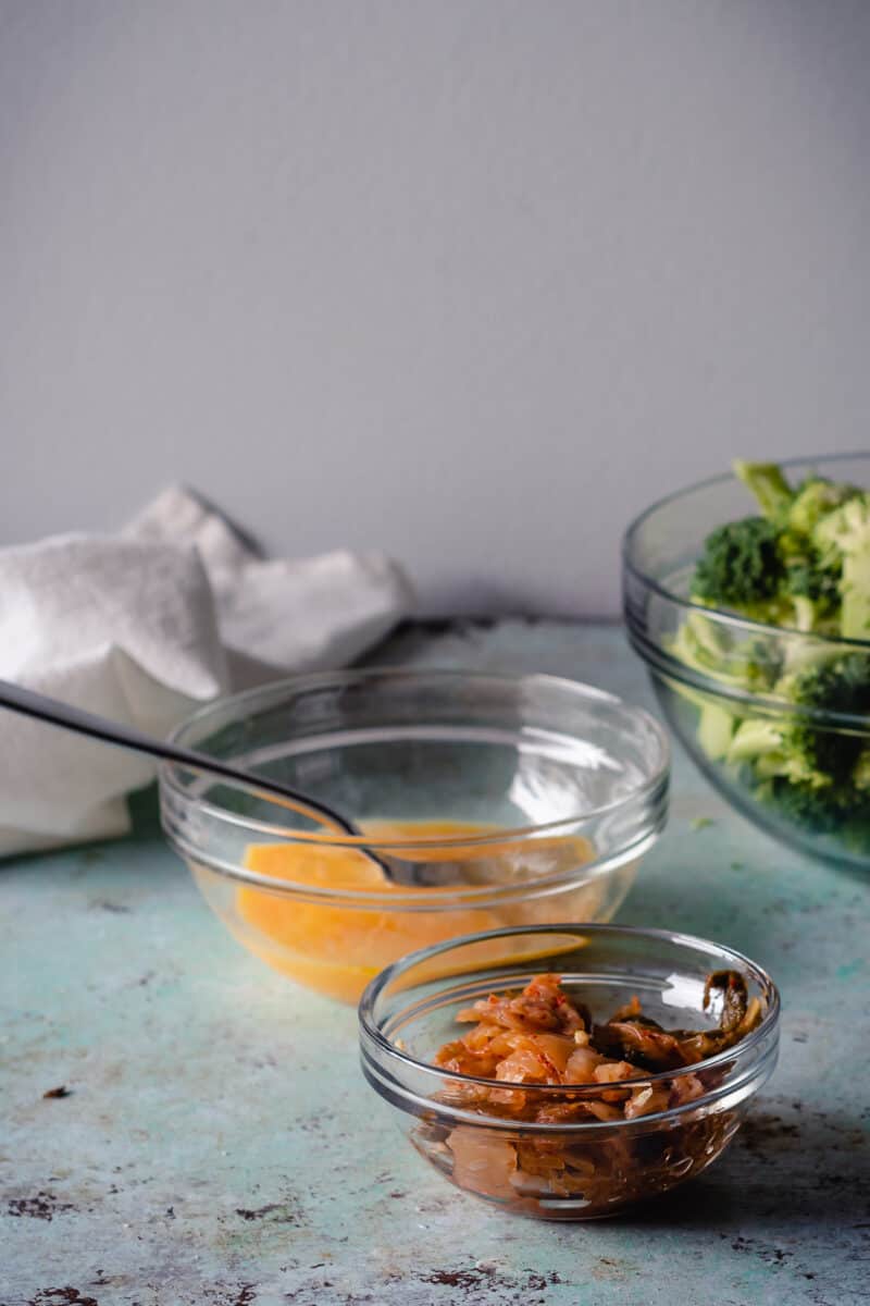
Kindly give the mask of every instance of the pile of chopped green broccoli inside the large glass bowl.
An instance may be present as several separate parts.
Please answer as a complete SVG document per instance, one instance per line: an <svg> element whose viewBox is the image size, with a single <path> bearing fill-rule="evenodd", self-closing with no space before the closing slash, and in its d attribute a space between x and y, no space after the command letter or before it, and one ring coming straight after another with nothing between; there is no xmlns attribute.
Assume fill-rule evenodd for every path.
<svg viewBox="0 0 870 1306"><path fill-rule="evenodd" d="M673 688L697 712L698 746L759 802L866 850L870 652L844 654L824 637L870 641L870 491L815 475L792 488L770 462L736 462L734 473L762 515L707 537L690 590L697 607L669 648L732 695L771 703L747 716L743 693L728 701L700 686ZM704 613L711 607L823 637L771 639ZM854 717L853 727L831 727L827 713Z"/></svg>

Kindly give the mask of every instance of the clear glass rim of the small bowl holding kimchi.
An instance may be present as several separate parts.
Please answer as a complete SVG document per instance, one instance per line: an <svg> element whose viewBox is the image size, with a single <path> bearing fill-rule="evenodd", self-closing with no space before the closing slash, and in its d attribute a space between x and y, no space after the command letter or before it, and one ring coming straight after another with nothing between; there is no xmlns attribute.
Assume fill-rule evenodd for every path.
<svg viewBox="0 0 870 1306"><path fill-rule="evenodd" d="M771 980L770 974L763 969L763 966L759 966L757 961L753 961L751 957L747 957L745 953L738 952L736 948L730 948L727 944L715 943L711 939L702 939L699 935L685 934L683 931L676 931L676 930L661 930L646 926L609 925L597 922L596 923L560 922L556 925L506 926L500 930L483 930L479 934L460 935L455 939L449 939L445 943L437 943L428 948L420 948L416 952L410 952L407 953L407 956L399 959L399 961L394 961L391 965L385 966L385 969L381 970L380 974L377 974L365 986L365 990L363 991L363 995L359 1002L357 1020L360 1028L360 1043L363 1045L363 1054L365 1055L365 1046L364 1046L365 1041L370 1041L378 1049L378 1051L385 1054L385 1057L389 1058L389 1060L391 1060L394 1064L398 1063L413 1072L423 1071L425 1075L432 1076L433 1079L443 1080L445 1077L449 1077L451 1080L459 1080L464 1084L479 1084L485 1088L517 1088L524 1092L533 1092L535 1094L541 1094L543 1098L547 1098L549 1096L558 1096L565 1092L574 1092L578 1096L587 1096L587 1097L593 1096L595 1093L600 1093L601 1085L593 1085L593 1084L577 1084L577 1085L523 1084L515 1080L496 1080L496 1079L479 1077L475 1075L463 1075L459 1071L446 1072L443 1067L434 1066L430 1062L419 1060L416 1057L411 1057L403 1049L397 1047L395 1043L393 1043L382 1033L381 1027L376 1021L373 1015L374 1004L387 983L390 983L397 977L407 973L412 966L429 961L430 959L437 957L445 952L450 952L454 948L464 947L471 943L488 942L490 939L507 938L510 935L563 934L570 930L575 930L578 934L580 932L596 934L599 936L610 935L617 938L618 936L629 936L634 939L640 938L652 942L677 944L680 947L694 948L698 951L715 949L720 956L721 953L725 953L728 960L737 961L743 968L746 968L753 974L753 978L764 990L764 996L767 999L767 1010L762 1017L760 1024L754 1030L751 1030L751 1033L741 1038L740 1042L734 1043L732 1047L728 1047L721 1053L716 1053L713 1057L706 1057L699 1062L694 1062L691 1066L677 1067L674 1070L668 1070L668 1071L640 1074L637 1077L629 1080L621 1080L620 1081L621 1085L631 1084L637 1087L639 1084L656 1084L656 1083L663 1083L665 1080L673 1083L674 1079L680 1079L682 1075L694 1075L698 1074L699 1071L715 1070L716 1067L723 1066L727 1062L734 1062L736 1059L745 1060L746 1053L764 1043L771 1034L773 1036L777 1034L779 1019L781 1012L781 999L779 989ZM528 974L531 977L532 973L540 974L541 972L540 970L532 972L531 968L528 970L523 968L523 974ZM457 976L453 974L445 978L455 980ZM485 1113L477 1113L477 1111L464 1113L462 1111L460 1107L453 1107L450 1104L437 1102L434 1105L437 1105L440 1109L443 1109L445 1114L454 1114L458 1117L462 1113L463 1117L467 1115L471 1122L475 1122L477 1124L492 1126L498 1123L501 1127L513 1128L514 1131L536 1128L536 1130L549 1130L549 1131L554 1130L561 1134L563 1131L570 1132L570 1131L587 1131L591 1128L620 1128L625 1126L637 1126L639 1123L646 1123L646 1124L655 1123L656 1121L682 1114L689 1107L691 1109L703 1107L704 1105L708 1105L710 1101L715 1101L716 1097L723 1094L723 1092L728 1092L729 1089L737 1087L738 1083L742 1083L740 1076L737 1080L730 1080L727 1081L725 1084L716 1085L708 1093L703 1093L700 1097L694 1098L691 1102L683 1102L680 1106L668 1107L664 1111L651 1111L648 1115L642 1115L642 1117L635 1117L633 1119L622 1119L622 1121L582 1121L582 1122L560 1123L560 1124L535 1124L533 1122L510 1121L509 1118L497 1115L490 1117ZM421 1097L413 1091L404 1088L403 1084L399 1085L399 1089L402 1092L402 1096L432 1109L433 1098Z"/></svg>

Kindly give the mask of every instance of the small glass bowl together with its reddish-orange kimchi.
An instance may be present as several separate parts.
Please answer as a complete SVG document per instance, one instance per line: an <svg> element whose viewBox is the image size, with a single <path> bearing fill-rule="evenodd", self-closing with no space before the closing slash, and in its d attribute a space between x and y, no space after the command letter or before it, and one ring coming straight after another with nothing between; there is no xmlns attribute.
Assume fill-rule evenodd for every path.
<svg viewBox="0 0 870 1306"><path fill-rule="evenodd" d="M609 1216L700 1174L767 1081L779 995L730 948L609 925L468 935L360 1002L369 1084L446 1179L544 1220Z"/></svg>

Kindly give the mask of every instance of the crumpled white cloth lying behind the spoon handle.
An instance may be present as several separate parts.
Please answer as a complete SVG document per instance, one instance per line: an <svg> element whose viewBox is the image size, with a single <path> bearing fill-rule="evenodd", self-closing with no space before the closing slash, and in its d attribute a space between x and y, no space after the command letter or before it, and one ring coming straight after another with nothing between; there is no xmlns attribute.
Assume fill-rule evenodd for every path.
<svg viewBox="0 0 870 1306"><path fill-rule="evenodd" d="M120 535L0 550L0 679L166 735L197 704L337 667L412 607L380 554L263 560L180 487ZM0 710L0 855L121 835L154 764Z"/></svg>

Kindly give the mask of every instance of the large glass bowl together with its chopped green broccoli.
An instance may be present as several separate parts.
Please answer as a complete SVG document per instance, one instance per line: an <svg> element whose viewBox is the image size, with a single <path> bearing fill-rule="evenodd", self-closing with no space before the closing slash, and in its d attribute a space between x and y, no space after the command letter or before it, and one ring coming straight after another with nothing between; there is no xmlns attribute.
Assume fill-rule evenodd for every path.
<svg viewBox="0 0 870 1306"><path fill-rule="evenodd" d="M870 454L736 462L629 528L623 609L674 734L775 837L870 866Z"/></svg>

